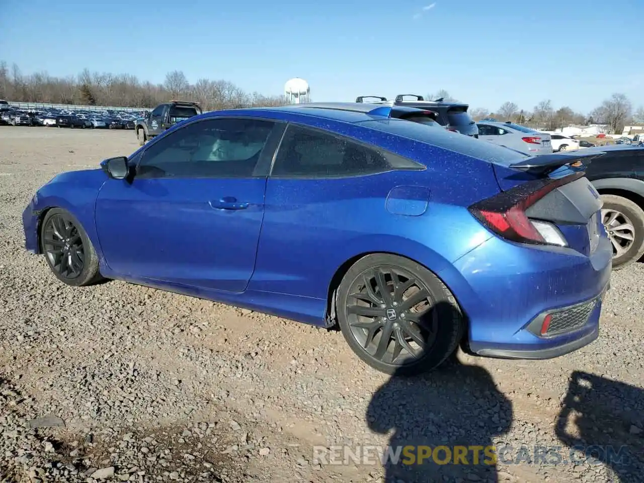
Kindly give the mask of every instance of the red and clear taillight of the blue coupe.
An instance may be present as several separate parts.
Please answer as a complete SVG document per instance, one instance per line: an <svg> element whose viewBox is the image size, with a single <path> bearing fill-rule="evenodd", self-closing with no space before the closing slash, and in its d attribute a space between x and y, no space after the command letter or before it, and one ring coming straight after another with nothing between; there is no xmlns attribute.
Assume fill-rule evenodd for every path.
<svg viewBox="0 0 644 483"><path fill-rule="evenodd" d="M545 178L527 182L471 205L469 212L506 240L565 247L568 243L554 223L532 220L526 210L554 189L582 176L583 173L575 173L558 180Z"/></svg>

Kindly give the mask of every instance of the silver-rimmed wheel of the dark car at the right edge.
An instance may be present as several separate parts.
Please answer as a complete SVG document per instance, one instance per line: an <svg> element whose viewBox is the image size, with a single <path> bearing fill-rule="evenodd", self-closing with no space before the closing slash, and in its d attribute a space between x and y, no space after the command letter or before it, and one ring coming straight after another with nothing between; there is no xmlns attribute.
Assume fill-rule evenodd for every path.
<svg viewBox="0 0 644 483"><path fill-rule="evenodd" d="M644 255L644 210L628 198L615 194L602 194L601 200L601 222L613 245L612 269L620 270ZM616 227L623 228L615 230ZM623 252L620 253L618 247Z"/></svg>

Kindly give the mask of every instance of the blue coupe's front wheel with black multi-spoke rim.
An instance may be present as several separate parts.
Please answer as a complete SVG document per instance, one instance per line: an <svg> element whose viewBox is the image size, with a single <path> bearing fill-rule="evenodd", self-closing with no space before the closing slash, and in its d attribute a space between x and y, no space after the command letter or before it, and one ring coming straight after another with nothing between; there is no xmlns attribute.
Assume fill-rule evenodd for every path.
<svg viewBox="0 0 644 483"><path fill-rule="evenodd" d="M60 208L50 209L41 223L40 235L47 264L60 281L71 287L83 287L102 279L96 250L73 214Z"/></svg>

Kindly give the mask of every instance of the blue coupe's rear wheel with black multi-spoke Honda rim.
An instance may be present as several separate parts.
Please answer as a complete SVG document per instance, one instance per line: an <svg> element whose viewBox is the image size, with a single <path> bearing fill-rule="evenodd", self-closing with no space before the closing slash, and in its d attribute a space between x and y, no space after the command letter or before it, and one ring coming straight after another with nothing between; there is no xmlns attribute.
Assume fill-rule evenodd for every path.
<svg viewBox="0 0 644 483"><path fill-rule="evenodd" d="M381 285L387 290L381 292ZM385 374L437 368L464 331L459 305L444 283L419 263L391 254L370 254L350 267L337 289L336 313L350 348Z"/></svg>

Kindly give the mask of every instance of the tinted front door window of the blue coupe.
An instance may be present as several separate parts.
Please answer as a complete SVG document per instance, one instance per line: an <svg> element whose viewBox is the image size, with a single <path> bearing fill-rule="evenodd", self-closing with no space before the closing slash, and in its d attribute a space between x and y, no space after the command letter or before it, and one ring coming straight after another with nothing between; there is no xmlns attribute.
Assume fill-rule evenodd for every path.
<svg viewBox="0 0 644 483"><path fill-rule="evenodd" d="M252 119L195 122L153 142L139 178L249 177L274 124Z"/></svg>

